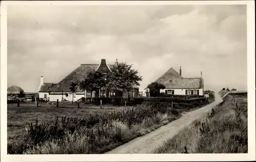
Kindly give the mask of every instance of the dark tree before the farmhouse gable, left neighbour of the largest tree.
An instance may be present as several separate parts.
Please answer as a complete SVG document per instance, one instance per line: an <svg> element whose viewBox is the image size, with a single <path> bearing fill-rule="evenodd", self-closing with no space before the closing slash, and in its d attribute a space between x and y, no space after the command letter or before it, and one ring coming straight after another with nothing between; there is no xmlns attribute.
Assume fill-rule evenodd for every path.
<svg viewBox="0 0 256 162"><path fill-rule="evenodd" d="M105 72L101 70L90 71L83 80L79 82L79 88L83 91L91 91L90 100L92 99L92 92L99 90L106 86L107 79Z"/></svg>

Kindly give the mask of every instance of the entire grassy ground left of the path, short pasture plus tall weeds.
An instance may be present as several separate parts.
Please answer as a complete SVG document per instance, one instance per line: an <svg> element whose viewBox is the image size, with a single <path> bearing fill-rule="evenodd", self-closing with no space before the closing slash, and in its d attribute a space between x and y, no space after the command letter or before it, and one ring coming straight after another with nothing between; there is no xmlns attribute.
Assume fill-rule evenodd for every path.
<svg viewBox="0 0 256 162"><path fill-rule="evenodd" d="M179 103L174 110L166 102L126 108L103 105L103 109L68 103L60 103L60 107L47 103L36 107L32 102L20 107L8 104L8 154L104 153L208 103ZM71 119L61 118L65 116Z"/></svg>

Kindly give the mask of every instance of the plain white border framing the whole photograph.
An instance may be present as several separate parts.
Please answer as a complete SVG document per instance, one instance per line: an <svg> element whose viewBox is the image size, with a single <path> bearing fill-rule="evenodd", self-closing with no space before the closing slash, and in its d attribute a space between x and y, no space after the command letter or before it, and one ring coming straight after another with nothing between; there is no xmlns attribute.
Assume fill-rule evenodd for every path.
<svg viewBox="0 0 256 162"><path fill-rule="evenodd" d="M7 155L7 5L247 5L247 154ZM234 26L236 28L236 26ZM1 2L1 161L226 161L255 160L254 1L2 1Z"/></svg>

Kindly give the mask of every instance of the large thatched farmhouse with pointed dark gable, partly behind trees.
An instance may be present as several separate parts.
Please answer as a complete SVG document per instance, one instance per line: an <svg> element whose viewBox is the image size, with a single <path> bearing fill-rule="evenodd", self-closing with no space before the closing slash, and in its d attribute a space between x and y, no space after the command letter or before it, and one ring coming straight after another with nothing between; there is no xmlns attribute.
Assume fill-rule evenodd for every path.
<svg viewBox="0 0 256 162"><path fill-rule="evenodd" d="M116 63L117 64L117 60ZM81 64L78 68L72 71L68 76L63 78L59 83L44 83L44 77L41 76L40 85L38 88L39 98L48 100L48 101L59 101L68 100L72 101L72 92L70 90L72 83L78 83L79 80L82 80L87 74L92 70L102 70L105 72L111 72L110 67L113 65L106 64L105 59L101 59L100 64ZM76 92L74 93L74 100L78 100L82 97L90 98L92 97L112 97L115 95L114 92L100 89L99 91L83 91L77 87ZM132 92L129 92L131 97L136 97L139 95L139 88L134 86ZM128 92L123 93L124 97L128 96Z"/></svg>

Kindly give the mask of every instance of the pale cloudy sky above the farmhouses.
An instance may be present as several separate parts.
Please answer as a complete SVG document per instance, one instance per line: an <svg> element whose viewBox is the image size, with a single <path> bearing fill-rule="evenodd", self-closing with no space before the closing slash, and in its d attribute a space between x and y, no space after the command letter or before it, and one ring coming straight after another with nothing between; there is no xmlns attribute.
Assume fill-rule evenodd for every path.
<svg viewBox="0 0 256 162"><path fill-rule="evenodd" d="M80 64L133 64L140 90L169 68L205 90L247 89L246 6L8 6L8 87L37 92Z"/></svg>

